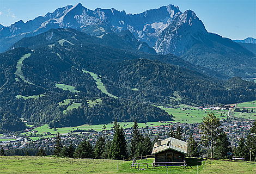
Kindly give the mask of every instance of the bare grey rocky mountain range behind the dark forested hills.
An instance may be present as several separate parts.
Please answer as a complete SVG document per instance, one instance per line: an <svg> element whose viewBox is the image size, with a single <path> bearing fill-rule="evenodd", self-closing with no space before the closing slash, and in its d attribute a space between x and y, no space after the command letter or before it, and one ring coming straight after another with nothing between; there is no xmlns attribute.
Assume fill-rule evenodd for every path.
<svg viewBox="0 0 256 174"><path fill-rule="evenodd" d="M135 15L115 9L90 10L81 3L74 7L68 5L26 23L18 21L1 28L1 52L22 38L35 36L52 28L73 28L95 36L129 30L138 42L147 43L136 45L140 48L143 46L141 50L145 49L144 52L172 53L194 66L200 65L217 71L222 74L222 78L256 76L253 49L249 48L249 51L247 47L230 39L207 32L203 22L193 11L186 10L182 13L174 5ZM149 47L154 47L155 51Z"/></svg>

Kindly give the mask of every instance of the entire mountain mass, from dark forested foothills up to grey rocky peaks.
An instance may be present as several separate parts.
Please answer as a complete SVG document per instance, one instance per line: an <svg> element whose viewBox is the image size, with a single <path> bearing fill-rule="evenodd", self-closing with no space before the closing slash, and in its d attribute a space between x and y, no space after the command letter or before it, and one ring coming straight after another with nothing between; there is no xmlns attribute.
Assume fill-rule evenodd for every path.
<svg viewBox="0 0 256 174"><path fill-rule="evenodd" d="M0 37L0 133L25 129L21 118L52 128L171 121L155 105L255 100L242 79L255 77L255 54L174 5L132 15L78 3Z"/></svg>

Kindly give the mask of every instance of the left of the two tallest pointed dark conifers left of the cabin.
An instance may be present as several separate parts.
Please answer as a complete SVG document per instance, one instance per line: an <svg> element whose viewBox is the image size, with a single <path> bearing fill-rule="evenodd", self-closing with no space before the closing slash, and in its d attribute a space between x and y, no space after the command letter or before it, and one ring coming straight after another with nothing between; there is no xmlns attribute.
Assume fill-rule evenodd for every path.
<svg viewBox="0 0 256 174"><path fill-rule="evenodd" d="M123 128L117 124L117 120L114 122L114 138L108 153L108 159L123 159L127 158L127 142L124 136Z"/></svg>

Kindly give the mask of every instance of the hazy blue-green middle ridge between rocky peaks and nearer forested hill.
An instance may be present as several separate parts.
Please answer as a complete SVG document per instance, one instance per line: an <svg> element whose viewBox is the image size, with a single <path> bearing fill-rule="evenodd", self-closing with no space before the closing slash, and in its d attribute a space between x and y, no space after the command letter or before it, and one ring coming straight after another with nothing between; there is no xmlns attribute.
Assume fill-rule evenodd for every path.
<svg viewBox="0 0 256 174"><path fill-rule="evenodd" d="M18 47L43 47L43 46L53 46L54 43L59 43L60 41L69 41L72 44L100 44L111 46L121 49L129 49L130 51L141 51L150 54L156 54L155 50L147 45L147 43L139 42L129 30L115 33L106 33L101 36L90 36L86 33L79 32L71 28L58 28L50 29L45 33L31 36L28 38L23 38L20 41L14 43L9 49Z"/></svg>

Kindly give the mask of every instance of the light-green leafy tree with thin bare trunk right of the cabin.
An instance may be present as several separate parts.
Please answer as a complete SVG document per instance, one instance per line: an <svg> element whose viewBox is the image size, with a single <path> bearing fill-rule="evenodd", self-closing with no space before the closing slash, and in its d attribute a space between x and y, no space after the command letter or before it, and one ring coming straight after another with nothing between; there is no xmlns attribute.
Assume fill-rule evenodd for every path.
<svg viewBox="0 0 256 174"><path fill-rule="evenodd" d="M203 116L199 129L201 133L201 143L205 146L211 146L211 158L214 157L214 145L218 135L222 132L220 119L214 113L208 113L207 116Z"/></svg>

